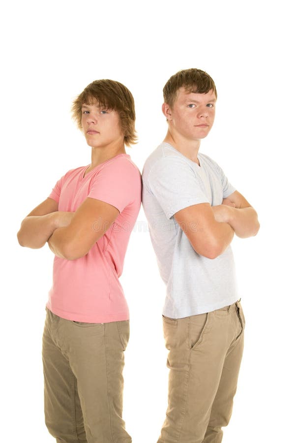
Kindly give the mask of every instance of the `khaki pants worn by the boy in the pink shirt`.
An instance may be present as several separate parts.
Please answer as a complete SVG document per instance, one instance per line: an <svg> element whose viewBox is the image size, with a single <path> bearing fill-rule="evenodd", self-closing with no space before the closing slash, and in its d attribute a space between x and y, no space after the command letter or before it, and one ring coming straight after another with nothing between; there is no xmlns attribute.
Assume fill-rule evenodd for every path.
<svg viewBox="0 0 295 443"><path fill-rule="evenodd" d="M130 443L122 420L129 320L81 323L47 310L45 422L59 443Z"/></svg>

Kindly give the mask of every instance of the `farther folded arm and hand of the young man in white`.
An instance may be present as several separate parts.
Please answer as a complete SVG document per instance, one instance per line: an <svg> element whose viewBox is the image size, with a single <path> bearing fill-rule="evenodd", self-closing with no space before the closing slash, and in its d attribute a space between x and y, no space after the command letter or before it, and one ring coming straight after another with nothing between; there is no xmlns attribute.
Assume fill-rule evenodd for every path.
<svg viewBox="0 0 295 443"><path fill-rule="evenodd" d="M224 199L222 205L212 206L212 210L216 221L229 223L240 238L252 237L259 231L255 209L237 191Z"/></svg>

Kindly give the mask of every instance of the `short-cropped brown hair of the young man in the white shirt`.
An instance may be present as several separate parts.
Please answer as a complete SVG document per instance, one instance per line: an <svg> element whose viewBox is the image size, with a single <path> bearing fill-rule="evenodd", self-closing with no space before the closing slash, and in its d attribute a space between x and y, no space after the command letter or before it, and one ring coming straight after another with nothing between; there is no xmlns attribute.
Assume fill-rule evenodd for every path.
<svg viewBox="0 0 295 443"><path fill-rule="evenodd" d="M180 88L184 88L188 94L207 94L212 90L217 98L214 81L207 72L201 69L183 69L170 77L163 89L165 103L173 107Z"/></svg>

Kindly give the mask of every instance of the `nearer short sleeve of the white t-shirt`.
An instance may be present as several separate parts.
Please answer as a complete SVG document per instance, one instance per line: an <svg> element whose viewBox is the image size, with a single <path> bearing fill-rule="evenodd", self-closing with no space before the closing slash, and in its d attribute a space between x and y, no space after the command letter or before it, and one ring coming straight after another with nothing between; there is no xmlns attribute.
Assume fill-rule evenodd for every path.
<svg viewBox="0 0 295 443"><path fill-rule="evenodd" d="M177 156L160 158L153 165L148 187L167 219L188 206L209 203L193 168Z"/></svg>

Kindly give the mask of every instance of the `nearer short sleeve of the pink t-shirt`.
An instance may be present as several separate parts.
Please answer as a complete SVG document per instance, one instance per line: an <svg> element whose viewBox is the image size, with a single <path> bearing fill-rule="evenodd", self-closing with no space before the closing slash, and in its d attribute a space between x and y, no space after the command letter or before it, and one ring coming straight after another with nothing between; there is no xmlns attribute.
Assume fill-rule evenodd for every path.
<svg viewBox="0 0 295 443"><path fill-rule="evenodd" d="M141 175L127 158L108 162L93 178L88 197L109 203L121 213L140 199Z"/></svg>

